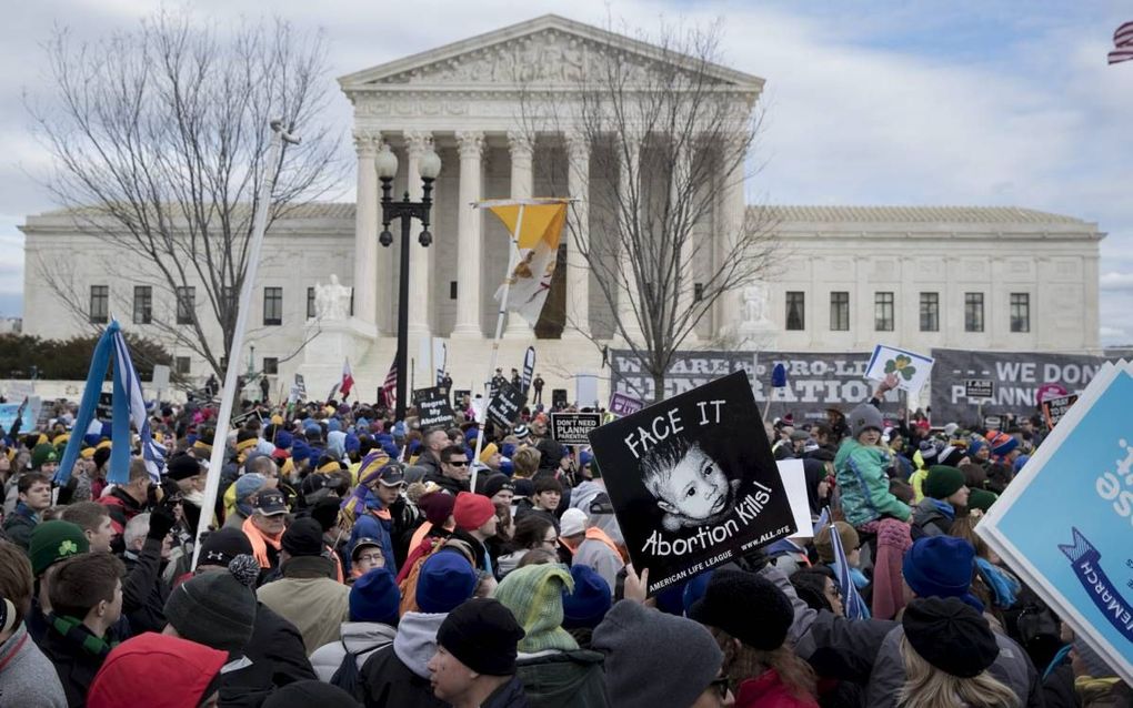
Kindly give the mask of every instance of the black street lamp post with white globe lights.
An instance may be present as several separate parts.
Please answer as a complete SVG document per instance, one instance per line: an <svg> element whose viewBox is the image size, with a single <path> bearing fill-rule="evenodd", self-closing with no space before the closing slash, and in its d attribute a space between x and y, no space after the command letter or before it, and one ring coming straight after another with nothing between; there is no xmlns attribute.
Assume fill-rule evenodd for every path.
<svg viewBox="0 0 1133 708"><path fill-rule="evenodd" d="M433 181L441 173L441 159L429 145L421 154L418 168L421 176L421 201L410 202L409 193L400 202L394 202L393 178L398 174L398 156L390 151L389 145L382 145L375 161L377 178L382 180L382 233L377 240L382 246L393 244L390 233L390 222L401 220L401 271L398 283L398 401L394 409L394 420L406 419L406 376L409 368L409 228L414 219L421 222L421 233L417 238L421 246L433 242L428 231L429 208L433 206Z"/></svg>

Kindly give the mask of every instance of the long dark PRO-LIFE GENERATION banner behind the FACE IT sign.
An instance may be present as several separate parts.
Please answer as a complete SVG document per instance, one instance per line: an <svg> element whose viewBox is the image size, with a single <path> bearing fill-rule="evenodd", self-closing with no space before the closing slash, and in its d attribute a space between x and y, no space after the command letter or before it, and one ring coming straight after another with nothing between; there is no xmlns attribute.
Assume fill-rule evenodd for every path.
<svg viewBox="0 0 1133 708"><path fill-rule="evenodd" d="M665 395L672 398L732 372L746 372L756 403L767 404L768 419L793 413L795 420L825 420L827 408L847 412L869 399L874 387L864 381L868 352L809 353L761 351L679 351L665 372ZM787 385L772 389L776 364L786 369ZM610 352L611 391L651 400L653 376L630 350ZM768 404L769 401L769 404ZM897 393L891 391L881 411L897 410Z"/></svg>

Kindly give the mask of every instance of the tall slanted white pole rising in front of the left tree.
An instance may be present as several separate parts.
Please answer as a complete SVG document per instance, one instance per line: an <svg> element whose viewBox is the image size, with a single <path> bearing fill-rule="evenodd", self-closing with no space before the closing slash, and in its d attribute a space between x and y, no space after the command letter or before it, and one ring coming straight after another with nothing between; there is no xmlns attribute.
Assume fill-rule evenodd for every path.
<svg viewBox="0 0 1133 708"><path fill-rule="evenodd" d="M213 435L212 455L208 458L208 478L205 483L205 498L201 504L201 520L197 522L197 534L193 544L193 565L197 566L201 558L201 538L208 532L216 506L216 495L220 491L221 468L224 466L229 423L232 418L232 404L236 401L236 379L240 364L240 350L244 349L244 331L248 324L248 310L252 305L252 290L256 284L256 272L259 270L259 251L264 245L264 231L267 230L267 205L272 199L274 170L280 163L283 143L299 144L299 138L283 130L282 120L271 121L272 138L264 161L264 178L259 185L259 203L253 221L252 241L248 245L248 265L244 271L244 283L240 287L240 301L236 310L236 330L228 351L228 369L224 372L224 390L220 401L220 415L216 419L216 432Z"/></svg>

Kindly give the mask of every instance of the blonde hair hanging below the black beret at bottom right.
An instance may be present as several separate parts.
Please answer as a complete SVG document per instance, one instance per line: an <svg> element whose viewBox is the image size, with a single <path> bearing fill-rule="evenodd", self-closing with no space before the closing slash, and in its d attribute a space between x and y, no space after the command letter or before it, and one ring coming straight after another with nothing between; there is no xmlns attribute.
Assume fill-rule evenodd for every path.
<svg viewBox="0 0 1133 708"><path fill-rule="evenodd" d="M901 637L901 660L905 684L897 693L901 708L1019 708L1015 692L985 671L972 679L961 679L940 671L917 654L909 638Z"/></svg>

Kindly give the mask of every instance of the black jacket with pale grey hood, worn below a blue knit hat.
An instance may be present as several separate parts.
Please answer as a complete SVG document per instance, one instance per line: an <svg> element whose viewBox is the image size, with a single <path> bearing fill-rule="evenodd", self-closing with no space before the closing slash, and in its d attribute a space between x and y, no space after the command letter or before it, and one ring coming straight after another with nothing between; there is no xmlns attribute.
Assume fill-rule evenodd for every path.
<svg viewBox="0 0 1133 708"><path fill-rule="evenodd" d="M436 632L448 614L407 612L393 642L369 655L363 667L367 706L448 708L433 696L428 662L436 654Z"/></svg>

